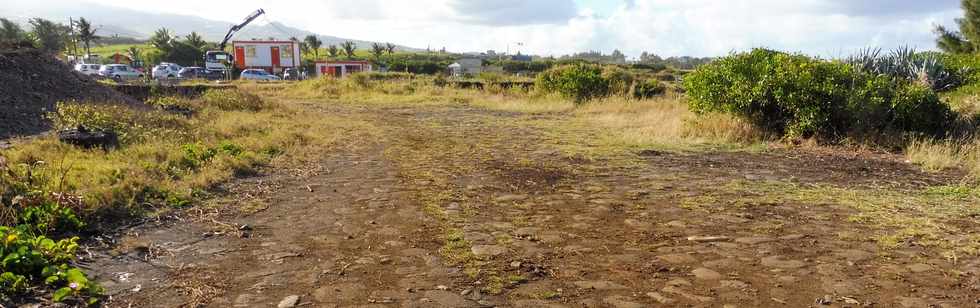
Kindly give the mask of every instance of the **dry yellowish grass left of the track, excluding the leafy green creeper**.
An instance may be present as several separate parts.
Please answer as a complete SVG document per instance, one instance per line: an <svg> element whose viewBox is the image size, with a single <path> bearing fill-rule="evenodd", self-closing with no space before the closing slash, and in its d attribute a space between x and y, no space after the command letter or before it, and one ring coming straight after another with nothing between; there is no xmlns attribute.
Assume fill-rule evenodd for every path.
<svg viewBox="0 0 980 308"><path fill-rule="evenodd" d="M132 214L188 204L232 178L265 167L315 161L331 148L368 140L362 137L375 132L368 122L351 115L305 112L301 106L278 100L265 103L259 110L227 110L228 106L222 109L200 103L193 117L173 127L152 119L123 122L144 129L134 129L133 134L139 136L115 149L82 149L47 136L16 142L0 151L0 157L14 165L44 161L58 175L50 179L50 186L83 195L87 214L106 210ZM85 112L98 113L99 108ZM88 117L86 114L78 115ZM145 129L149 126L152 129ZM198 159L191 154L194 151L215 154Z"/></svg>

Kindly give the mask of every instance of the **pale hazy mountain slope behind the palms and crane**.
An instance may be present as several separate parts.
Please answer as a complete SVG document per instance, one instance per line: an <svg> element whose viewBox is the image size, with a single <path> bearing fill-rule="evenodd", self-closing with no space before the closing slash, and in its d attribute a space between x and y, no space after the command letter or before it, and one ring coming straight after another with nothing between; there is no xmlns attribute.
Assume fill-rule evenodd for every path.
<svg viewBox="0 0 980 308"><path fill-rule="evenodd" d="M0 17L10 18L25 24L33 17L41 17L68 23L69 18L85 17L99 30L101 36L121 36L146 39L160 28L167 28L177 35L183 36L192 31L197 32L207 41L220 42L224 39L233 24L224 21L210 20L197 16L187 16L167 13L150 13L138 10L119 8L107 5L85 2L72 2L70 5L38 6L31 1L11 1L0 9ZM243 16L244 17L244 16ZM26 28L26 27L25 27ZM285 24L270 21L268 17L259 17L255 22L239 31L234 40L250 39L289 39L303 37L313 32L293 28ZM323 46L338 45L344 41L353 41L359 49L370 49L374 42L341 38L329 35L317 35ZM417 48L399 46L402 50L417 51Z"/></svg>

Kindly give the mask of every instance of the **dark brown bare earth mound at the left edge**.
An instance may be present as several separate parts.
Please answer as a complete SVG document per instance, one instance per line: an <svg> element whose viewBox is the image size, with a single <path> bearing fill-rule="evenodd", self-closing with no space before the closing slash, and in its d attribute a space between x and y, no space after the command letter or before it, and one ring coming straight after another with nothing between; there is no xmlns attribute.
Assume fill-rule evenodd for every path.
<svg viewBox="0 0 980 308"><path fill-rule="evenodd" d="M45 114L60 101L136 103L50 54L0 51L0 140L49 130Z"/></svg>

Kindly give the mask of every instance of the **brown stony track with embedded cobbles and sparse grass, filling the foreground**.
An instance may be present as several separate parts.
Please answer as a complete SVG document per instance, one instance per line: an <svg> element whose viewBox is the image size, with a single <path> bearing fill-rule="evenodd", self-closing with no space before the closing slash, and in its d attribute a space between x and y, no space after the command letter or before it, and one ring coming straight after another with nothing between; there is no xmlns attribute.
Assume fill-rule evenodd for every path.
<svg viewBox="0 0 980 308"><path fill-rule="evenodd" d="M110 307L980 306L980 259L959 249L980 243L971 205L911 237L861 219L881 198L975 202L923 197L955 172L817 150L579 155L600 132L541 128L561 114L309 104L382 133L107 239L87 266Z"/></svg>

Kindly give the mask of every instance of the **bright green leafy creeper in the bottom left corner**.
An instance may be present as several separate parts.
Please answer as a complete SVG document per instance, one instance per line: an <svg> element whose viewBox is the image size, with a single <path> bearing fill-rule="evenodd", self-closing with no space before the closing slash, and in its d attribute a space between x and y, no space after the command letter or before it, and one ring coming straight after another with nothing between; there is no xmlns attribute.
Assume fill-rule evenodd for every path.
<svg viewBox="0 0 980 308"><path fill-rule="evenodd" d="M0 226L0 299L9 300L10 296L44 285L56 290L52 296L55 302L88 299L92 303L100 296L101 288L80 269L69 265L75 259L78 238L48 237L84 226L72 210L80 206L81 199L48 191L45 184L49 181L42 165L8 166L0 157L0 208L4 209Z"/></svg>

